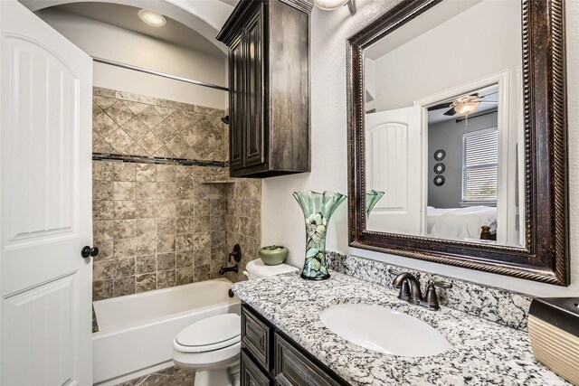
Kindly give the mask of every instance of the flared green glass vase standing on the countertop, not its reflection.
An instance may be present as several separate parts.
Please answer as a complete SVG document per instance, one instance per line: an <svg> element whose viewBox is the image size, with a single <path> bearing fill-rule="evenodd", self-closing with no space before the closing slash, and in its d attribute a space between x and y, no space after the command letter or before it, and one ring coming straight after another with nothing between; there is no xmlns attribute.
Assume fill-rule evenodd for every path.
<svg viewBox="0 0 579 386"><path fill-rule="evenodd" d="M332 213L346 200L340 193L312 191L294 192L306 220L306 259L301 278L324 280L329 278L326 260L327 224Z"/></svg>

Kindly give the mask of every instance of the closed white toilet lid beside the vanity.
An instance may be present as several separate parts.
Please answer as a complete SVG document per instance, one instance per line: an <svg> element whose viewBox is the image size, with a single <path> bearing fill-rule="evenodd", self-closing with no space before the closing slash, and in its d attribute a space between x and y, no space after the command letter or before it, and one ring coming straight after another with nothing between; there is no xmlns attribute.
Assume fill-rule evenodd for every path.
<svg viewBox="0 0 579 386"><path fill-rule="evenodd" d="M237 314L223 314L204 318L189 325L176 336L182 346L211 346L212 349L227 347L239 342L242 321Z"/></svg>

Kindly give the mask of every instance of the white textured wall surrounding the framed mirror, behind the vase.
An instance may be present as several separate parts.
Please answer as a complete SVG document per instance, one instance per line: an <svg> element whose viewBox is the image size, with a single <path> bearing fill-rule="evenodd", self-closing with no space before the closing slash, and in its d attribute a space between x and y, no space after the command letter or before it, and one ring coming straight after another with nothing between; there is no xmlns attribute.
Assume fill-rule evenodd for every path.
<svg viewBox="0 0 579 386"><path fill-rule="evenodd" d="M357 0L357 14L346 7L334 12L314 8L311 16L311 156L312 173L263 180L261 202L261 244L282 244L289 248L289 264L300 267L305 250L304 221L291 193L303 189L347 191L346 155L346 39L395 4L385 0ZM579 295L579 2L565 2L568 148L569 148L569 221L570 287L556 287L517 278L493 275L464 268L405 259L347 243L346 203L330 221L327 249L399 264L408 268L461 278L494 287L503 287L536 296L571 297Z"/></svg>

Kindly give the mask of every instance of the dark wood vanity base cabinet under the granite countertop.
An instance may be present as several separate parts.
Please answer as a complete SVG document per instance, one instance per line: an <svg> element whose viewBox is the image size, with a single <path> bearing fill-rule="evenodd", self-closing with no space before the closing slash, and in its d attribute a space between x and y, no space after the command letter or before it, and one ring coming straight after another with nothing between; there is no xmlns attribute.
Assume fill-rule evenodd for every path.
<svg viewBox="0 0 579 386"><path fill-rule="evenodd" d="M242 386L345 386L310 353L242 304Z"/></svg>

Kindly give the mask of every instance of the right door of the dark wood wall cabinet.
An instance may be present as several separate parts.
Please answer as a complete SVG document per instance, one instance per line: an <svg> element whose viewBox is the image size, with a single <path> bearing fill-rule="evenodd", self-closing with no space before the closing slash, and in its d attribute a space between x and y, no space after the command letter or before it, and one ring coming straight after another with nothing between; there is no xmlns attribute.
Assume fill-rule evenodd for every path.
<svg viewBox="0 0 579 386"><path fill-rule="evenodd" d="M245 27L247 65L247 128L245 132L245 166L265 162L263 137L263 7Z"/></svg>

